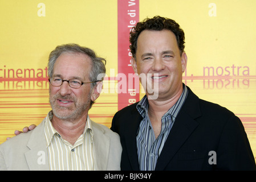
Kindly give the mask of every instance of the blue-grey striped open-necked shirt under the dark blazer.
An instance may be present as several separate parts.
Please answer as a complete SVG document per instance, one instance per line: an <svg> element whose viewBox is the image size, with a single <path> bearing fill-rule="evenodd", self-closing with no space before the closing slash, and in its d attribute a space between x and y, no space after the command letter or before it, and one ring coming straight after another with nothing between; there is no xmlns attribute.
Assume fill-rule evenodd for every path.
<svg viewBox="0 0 256 182"><path fill-rule="evenodd" d="M188 96L188 89L183 86L183 91L176 102L163 116L161 133L157 139L151 125L151 121L148 117L148 99L144 96L142 100L137 104L137 110L143 117L140 122L140 126L137 132L137 154L139 158L141 171L153 171L155 170L157 159L159 158L165 141L172 129L173 123L184 104L186 97Z"/></svg>

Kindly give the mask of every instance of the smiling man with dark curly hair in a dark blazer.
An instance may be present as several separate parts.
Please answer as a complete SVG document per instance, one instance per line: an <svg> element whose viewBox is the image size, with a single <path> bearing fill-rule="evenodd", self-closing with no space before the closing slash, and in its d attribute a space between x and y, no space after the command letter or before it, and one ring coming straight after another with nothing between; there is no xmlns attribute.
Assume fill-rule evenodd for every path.
<svg viewBox="0 0 256 182"><path fill-rule="evenodd" d="M182 84L187 57L180 26L160 16L145 19L130 42L135 73L158 74L146 79L158 86L158 97L144 87L140 102L113 117L111 129L123 147L121 170L255 170L240 119Z"/></svg>

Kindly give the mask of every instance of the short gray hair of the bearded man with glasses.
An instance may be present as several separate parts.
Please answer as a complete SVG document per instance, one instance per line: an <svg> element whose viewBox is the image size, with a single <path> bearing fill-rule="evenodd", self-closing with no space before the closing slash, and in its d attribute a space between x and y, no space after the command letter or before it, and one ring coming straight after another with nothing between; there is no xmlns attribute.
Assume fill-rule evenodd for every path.
<svg viewBox="0 0 256 182"><path fill-rule="evenodd" d="M96 81L97 77L99 75L105 75L106 69L105 64L106 60L102 57L97 57L96 53L87 47L79 46L78 44L63 44L61 46L57 46L49 55L48 59L48 77L52 77L53 71L54 71L54 64L56 59L62 54L67 52L74 52L74 53L83 53L84 55L87 55L91 58L92 67L90 71L90 81ZM101 81L103 81L103 78L101 78ZM91 88L94 88L96 85L96 82L91 83ZM91 101L90 108L94 104L93 101Z"/></svg>

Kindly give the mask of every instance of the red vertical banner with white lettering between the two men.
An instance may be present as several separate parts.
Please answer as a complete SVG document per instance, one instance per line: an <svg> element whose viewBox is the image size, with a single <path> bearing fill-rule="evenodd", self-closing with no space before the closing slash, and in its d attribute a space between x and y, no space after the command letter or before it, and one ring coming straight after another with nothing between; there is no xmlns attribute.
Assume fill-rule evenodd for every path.
<svg viewBox="0 0 256 182"><path fill-rule="evenodd" d="M117 0L118 110L140 99L139 82L131 81L134 72L129 49L129 32L137 22L139 22L139 0Z"/></svg>

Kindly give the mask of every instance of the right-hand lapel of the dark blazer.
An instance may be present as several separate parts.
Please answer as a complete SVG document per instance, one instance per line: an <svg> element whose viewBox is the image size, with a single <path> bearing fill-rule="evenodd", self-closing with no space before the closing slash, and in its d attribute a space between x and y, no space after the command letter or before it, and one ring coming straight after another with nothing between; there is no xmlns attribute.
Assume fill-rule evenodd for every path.
<svg viewBox="0 0 256 182"><path fill-rule="evenodd" d="M188 97L173 124L172 130L170 130L164 148L157 160L155 170L164 170L182 144L184 144L186 139L188 139L190 134L192 134L194 129L199 125L198 122L194 120L201 115L199 98L189 88L188 90Z"/></svg>

